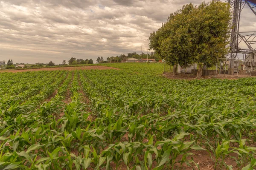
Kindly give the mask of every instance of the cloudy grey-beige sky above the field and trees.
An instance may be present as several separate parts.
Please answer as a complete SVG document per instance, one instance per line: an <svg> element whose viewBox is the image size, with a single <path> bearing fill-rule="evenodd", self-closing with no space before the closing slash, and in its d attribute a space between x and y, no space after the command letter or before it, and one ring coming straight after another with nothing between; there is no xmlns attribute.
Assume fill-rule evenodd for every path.
<svg viewBox="0 0 256 170"><path fill-rule="evenodd" d="M170 13L202 0L0 0L0 61L61 63L146 53L148 35ZM241 31L256 31L245 6Z"/></svg>

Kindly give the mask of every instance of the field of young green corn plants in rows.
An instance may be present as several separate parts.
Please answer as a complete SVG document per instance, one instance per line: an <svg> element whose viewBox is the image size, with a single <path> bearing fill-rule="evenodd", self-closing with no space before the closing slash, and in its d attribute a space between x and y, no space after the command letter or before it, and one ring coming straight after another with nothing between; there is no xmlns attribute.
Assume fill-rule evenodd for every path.
<svg viewBox="0 0 256 170"><path fill-rule="evenodd" d="M256 168L256 79L158 63L0 73L0 170Z"/></svg>

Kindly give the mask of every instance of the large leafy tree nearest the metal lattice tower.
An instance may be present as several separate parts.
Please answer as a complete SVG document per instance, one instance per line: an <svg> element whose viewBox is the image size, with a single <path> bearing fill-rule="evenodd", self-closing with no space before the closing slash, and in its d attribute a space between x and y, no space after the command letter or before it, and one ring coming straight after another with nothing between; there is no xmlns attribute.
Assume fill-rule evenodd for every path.
<svg viewBox="0 0 256 170"><path fill-rule="evenodd" d="M229 4L220 1L203 2L193 12L189 22L193 48L191 58L198 63L198 78L202 76L202 65L211 67L217 58L228 53L230 20Z"/></svg>

